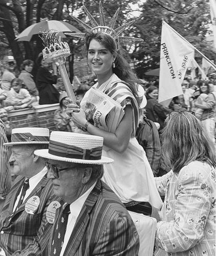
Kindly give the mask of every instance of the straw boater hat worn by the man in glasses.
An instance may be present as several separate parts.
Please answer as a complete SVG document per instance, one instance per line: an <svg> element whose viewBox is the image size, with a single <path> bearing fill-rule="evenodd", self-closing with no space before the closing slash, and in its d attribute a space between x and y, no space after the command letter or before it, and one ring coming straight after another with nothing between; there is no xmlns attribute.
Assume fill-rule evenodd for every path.
<svg viewBox="0 0 216 256"><path fill-rule="evenodd" d="M48 159L84 163L107 164L113 159L102 156L103 138L99 136L51 132L49 150L36 150L35 155Z"/></svg>

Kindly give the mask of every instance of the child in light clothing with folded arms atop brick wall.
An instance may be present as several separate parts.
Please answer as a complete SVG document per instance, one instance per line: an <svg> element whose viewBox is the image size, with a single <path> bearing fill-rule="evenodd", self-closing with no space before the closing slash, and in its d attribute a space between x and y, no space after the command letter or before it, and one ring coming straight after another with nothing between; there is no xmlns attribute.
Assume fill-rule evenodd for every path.
<svg viewBox="0 0 216 256"><path fill-rule="evenodd" d="M14 78L11 81L12 88L7 93L7 99L4 100L5 106L14 106L15 110L31 108L31 103L35 101L29 92L21 88L23 81L19 78Z"/></svg>

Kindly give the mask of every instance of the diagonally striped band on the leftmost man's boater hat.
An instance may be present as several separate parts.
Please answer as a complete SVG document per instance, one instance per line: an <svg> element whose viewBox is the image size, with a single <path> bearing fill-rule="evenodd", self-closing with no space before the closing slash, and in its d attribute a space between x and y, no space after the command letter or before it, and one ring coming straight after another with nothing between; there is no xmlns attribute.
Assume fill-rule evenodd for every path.
<svg viewBox="0 0 216 256"><path fill-rule="evenodd" d="M34 136L31 133L13 133L11 135L11 142L49 142L49 136Z"/></svg>

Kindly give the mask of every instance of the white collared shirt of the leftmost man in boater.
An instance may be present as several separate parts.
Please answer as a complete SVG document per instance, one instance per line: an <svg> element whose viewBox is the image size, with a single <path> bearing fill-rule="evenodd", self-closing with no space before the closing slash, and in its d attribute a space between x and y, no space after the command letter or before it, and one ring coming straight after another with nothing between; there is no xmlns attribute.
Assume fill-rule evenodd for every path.
<svg viewBox="0 0 216 256"><path fill-rule="evenodd" d="M26 195L23 199L23 202L27 199L27 197L30 195L32 190L36 187L36 185L42 180L42 178L45 176L47 173L47 167L44 167L38 174L34 175L29 179L29 188L26 190ZM18 204L19 198L21 196L21 191L16 199L16 202L13 206L13 211L16 209L16 206Z"/></svg>

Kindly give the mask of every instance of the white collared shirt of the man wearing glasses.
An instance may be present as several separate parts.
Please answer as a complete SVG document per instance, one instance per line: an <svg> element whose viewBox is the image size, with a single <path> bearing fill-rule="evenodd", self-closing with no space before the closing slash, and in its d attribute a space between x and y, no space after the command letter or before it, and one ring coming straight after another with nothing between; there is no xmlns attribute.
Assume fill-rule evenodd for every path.
<svg viewBox="0 0 216 256"><path fill-rule="evenodd" d="M59 256L63 255L64 250L66 249L68 241L71 237L76 220L80 214L81 208L82 208L85 200L87 200L89 194L95 187L96 183L97 182L95 182L81 197L77 198L77 200L75 200L73 203L70 204L71 213L68 216L68 224L67 224L67 228L66 228L66 233L64 235L64 242L63 242L61 253Z"/></svg>

